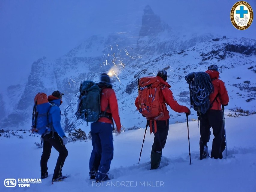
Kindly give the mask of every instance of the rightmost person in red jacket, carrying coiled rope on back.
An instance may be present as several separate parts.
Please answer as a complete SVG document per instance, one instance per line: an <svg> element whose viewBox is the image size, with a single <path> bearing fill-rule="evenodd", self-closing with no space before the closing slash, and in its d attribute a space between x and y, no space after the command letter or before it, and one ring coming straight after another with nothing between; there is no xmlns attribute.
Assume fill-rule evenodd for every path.
<svg viewBox="0 0 256 192"><path fill-rule="evenodd" d="M221 114L221 105L228 105L229 97L227 94L227 89L223 81L219 79L220 73L217 65L210 65L206 73L210 75L212 84L214 87L214 92L209 95L210 103L212 107L205 113L199 114L200 120L200 160L205 159L208 156L208 146L207 143L210 140L212 127L212 132L214 139L212 141L212 153L211 158L222 159L222 153L226 148L226 138L224 123Z"/></svg>

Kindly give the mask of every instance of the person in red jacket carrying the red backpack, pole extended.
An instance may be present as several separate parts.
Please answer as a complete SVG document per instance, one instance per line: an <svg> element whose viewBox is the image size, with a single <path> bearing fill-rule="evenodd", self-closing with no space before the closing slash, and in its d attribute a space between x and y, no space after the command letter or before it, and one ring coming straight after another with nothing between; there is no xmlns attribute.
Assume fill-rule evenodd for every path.
<svg viewBox="0 0 256 192"><path fill-rule="evenodd" d="M190 114L189 108L183 105L179 105L174 98L172 91L169 89L171 86L166 82L167 72L165 70L160 70L157 73L157 79L160 81L161 91L159 102L163 105L163 117L156 121L156 133L154 127L155 123L154 121L150 121L150 126L152 126L152 132L154 133L154 143L151 150L151 169L157 169L159 167L162 157L162 150L168 136L170 116L166 104L169 105L172 110L178 113L187 113L188 115ZM139 96L135 100L135 105L137 109L139 109Z"/></svg>

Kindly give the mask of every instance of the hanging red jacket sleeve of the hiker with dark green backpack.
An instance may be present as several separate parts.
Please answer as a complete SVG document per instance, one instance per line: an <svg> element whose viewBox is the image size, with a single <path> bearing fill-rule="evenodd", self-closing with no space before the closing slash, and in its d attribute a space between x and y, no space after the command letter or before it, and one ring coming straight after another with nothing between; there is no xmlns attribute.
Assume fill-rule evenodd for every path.
<svg viewBox="0 0 256 192"><path fill-rule="evenodd" d="M121 123L120 123L120 117L118 114L118 104L117 104L117 98L115 92L111 92L109 96L109 108L112 114L112 117L116 123L117 131L121 130Z"/></svg>

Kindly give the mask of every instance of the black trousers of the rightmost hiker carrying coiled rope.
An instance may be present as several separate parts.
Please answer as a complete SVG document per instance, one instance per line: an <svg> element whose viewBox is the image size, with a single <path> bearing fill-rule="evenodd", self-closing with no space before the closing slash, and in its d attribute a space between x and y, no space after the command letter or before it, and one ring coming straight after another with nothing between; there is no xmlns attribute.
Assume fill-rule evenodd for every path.
<svg viewBox="0 0 256 192"><path fill-rule="evenodd" d="M225 130L223 126L223 117L222 113L219 110L208 110L205 114L199 115L200 120L200 151L203 150L204 146L207 146L207 143L210 140L212 127L212 132L214 139L212 141L212 153L211 158L222 159L222 152L226 148L226 138Z"/></svg>

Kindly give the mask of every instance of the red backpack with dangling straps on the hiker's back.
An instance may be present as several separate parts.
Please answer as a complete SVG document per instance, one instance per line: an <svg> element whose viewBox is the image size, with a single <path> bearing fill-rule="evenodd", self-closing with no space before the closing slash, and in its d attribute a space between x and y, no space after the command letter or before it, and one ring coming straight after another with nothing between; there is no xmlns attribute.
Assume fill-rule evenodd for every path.
<svg viewBox="0 0 256 192"><path fill-rule="evenodd" d="M139 79L139 112L149 121L155 123L163 117L163 104L159 101L160 81L157 77L143 77ZM151 122L150 122L151 128ZM152 133L152 128L151 128Z"/></svg>

